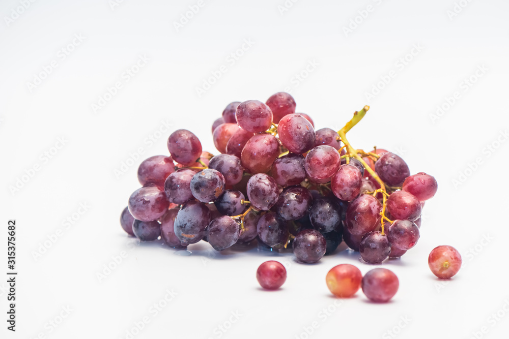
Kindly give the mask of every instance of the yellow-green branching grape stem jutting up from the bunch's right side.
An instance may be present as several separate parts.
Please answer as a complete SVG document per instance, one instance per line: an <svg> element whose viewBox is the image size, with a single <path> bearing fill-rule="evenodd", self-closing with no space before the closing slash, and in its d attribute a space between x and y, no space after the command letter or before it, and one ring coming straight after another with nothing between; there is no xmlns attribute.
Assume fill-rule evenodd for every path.
<svg viewBox="0 0 509 339"><path fill-rule="evenodd" d="M384 235L385 234L384 233L384 225L383 225L384 224L384 220L392 223L392 221L390 221L389 219L387 219L387 217L385 217L385 208L387 207L387 196L388 196L388 193L387 193L387 191L385 189L385 184L382 181L382 179L380 179L378 174L375 173L375 171L371 169L371 166L366 164L364 159L362 159L362 157L359 156L359 153L361 153L361 155L364 155L364 156L374 157L377 160L378 160L378 158L380 158L380 156L378 156L376 153L372 153L372 152L366 153L363 150L354 149L350 145L350 143L348 142L348 139L346 137L347 132L350 131L355 125L357 125L360 120L362 120L362 118L364 117L364 115L366 115L366 112L369 109L370 109L370 106L366 105L360 111L354 112L352 119L346 123L345 127L343 127L341 130L337 131L337 134L340 136L341 141L345 144L345 146L344 146L346 148L346 155L345 155L346 157L345 158L347 159L347 164L350 162L350 158L357 159L362 164L362 166L364 166L364 168L367 170L367 172L369 172L371 174L371 176L380 185L380 189L376 190L374 193L375 194L376 193L382 193L382 212L380 213L380 215L382 217L382 219L381 219L382 235Z"/></svg>

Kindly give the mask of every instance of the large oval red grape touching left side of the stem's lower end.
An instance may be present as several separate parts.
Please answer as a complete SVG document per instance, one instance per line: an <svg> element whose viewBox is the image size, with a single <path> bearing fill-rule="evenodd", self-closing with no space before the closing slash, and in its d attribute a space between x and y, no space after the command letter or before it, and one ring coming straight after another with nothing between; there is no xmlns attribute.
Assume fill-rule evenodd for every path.
<svg viewBox="0 0 509 339"><path fill-rule="evenodd" d="M377 198L361 194L350 202L346 214L346 226L354 235L364 235L376 230L382 218L382 204Z"/></svg>

